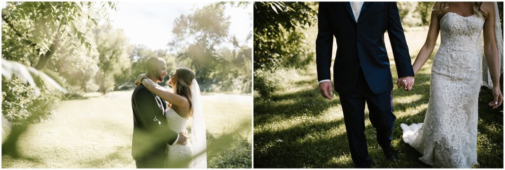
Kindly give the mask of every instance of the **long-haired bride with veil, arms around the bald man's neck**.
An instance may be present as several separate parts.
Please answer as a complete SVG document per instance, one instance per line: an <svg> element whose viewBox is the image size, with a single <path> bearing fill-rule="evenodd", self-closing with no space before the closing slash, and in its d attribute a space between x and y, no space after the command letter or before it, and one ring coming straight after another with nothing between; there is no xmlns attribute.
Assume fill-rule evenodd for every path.
<svg viewBox="0 0 505 170"><path fill-rule="evenodd" d="M165 72L166 74L166 72ZM145 74L135 80L142 83L147 90L167 101L165 117L169 129L181 133L186 132L186 126L192 117L191 141L186 145L167 144L167 160L165 167L171 168L207 168L207 142L203 110L201 109L200 88L195 80L195 74L188 68L178 68L170 76L168 85L174 92L154 83Z"/></svg>

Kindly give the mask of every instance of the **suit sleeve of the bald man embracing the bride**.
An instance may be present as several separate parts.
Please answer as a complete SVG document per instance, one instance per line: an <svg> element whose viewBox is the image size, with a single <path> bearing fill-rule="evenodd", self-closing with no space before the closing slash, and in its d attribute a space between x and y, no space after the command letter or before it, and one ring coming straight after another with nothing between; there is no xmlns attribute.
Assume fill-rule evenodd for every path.
<svg viewBox="0 0 505 170"><path fill-rule="evenodd" d="M179 134L168 129L167 121L161 120L165 117L159 118L157 115L162 115L162 109L158 106L153 97L147 89L142 88L135 94L135 103L138 118L141 124L145 126L151 135L165 141L167 144L172 145ZM159 112L160 114L157 114Z"/></svg>

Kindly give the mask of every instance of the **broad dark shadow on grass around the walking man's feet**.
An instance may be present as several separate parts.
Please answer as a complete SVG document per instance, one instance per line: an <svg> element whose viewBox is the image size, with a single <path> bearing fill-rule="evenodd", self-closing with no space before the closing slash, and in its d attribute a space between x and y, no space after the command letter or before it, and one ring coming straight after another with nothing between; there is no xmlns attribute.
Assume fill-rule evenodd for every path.
<svg viewBox="0 0 505 170"><path fill-rule="evenodd" d="M365 115L368 117L368 114ZM398 119L399 122L408 118ZM395 125L396 125L395 124ZM343 126L343 119L328 123L308 123L281 131L262 131L255 133L255 168L352 168L354 163L350 158L347 135L344 130L339 135L323 136L307 139L309 135L319 136L320 132L327 132L334 127ZM396 126L395 126L396 127ZM398 131L395 128L396 131ZM401 139L400 133L393 133L393 141ZM369 124L365 134L368 151L372 158L372 167L431 167L417 160L421 155L408 144L403 142L394 145L398 149L398 163L385 158L376 140L376 130ZM302 142L302 141L306 142ZM394 143L394 142L393 142ZM413 160L415 163L413 163Z"/></svg>

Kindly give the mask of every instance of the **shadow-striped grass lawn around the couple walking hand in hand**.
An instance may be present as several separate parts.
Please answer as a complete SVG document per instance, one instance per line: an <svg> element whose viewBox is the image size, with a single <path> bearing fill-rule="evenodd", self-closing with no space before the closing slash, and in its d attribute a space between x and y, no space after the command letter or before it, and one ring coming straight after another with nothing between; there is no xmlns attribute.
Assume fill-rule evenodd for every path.
<svg viewBox="0 0 505 170"><path fill-rule="evenodd" d="M317 29L315 32L317 33ZM407 41L412 43L409 44L412 61L424 43L426 32L427 30L422 28L406 29ZM391 72L396 80L396 68L390 48L388 52ZM421 155L401 140L402 131L399 126L401 123L410 125L424 121L429 100L431 62L430 59L416 75L416 85L412 91L406 92L396 87L393 89L393 109L397 119L392 145L399 151L397 163L384 157L377 144L375 128L368 119L368 109L365 108L365 135L373 168L432 167L418 160ZM354 167L338 94L334 94L332 100L321 96L315 65L311 64L306 70L279 69L267 77L276 80L274 92L269 96L255 93L255 168ZM503 107L494 110L488 108L487 103L492 101L492 95L489 93L489 90L483 89L479 96L479 164L475 165L475 168L503 167Z"/></svg>

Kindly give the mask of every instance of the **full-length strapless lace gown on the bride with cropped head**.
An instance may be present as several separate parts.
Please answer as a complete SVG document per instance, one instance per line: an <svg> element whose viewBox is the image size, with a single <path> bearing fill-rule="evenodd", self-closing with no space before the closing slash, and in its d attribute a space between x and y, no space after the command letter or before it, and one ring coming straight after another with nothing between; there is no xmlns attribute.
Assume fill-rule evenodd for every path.
<svg viewBox="0 0 505 170"><path fill-rule="evenodd" d="M440 20L440 47L433 59L424 124L401 124L403 141L436 167L477 164L477 104L482 60L477 48L484 19L447 13Z"/></svg>

